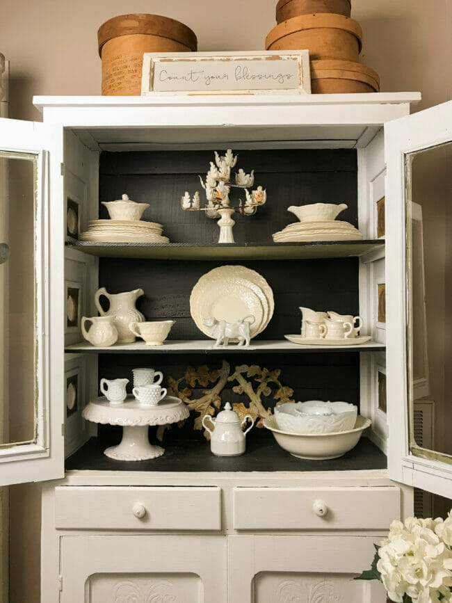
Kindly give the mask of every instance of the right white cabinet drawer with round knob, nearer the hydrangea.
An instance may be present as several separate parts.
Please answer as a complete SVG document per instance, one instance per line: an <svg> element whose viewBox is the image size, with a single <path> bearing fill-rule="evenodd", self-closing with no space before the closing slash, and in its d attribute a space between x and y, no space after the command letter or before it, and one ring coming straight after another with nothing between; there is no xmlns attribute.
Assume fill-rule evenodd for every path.
<svg viewBox="0 0 452 603"><path fill-rule="evenodd" d="M374 488L234 488L234 529L389 529L401 492Z"/></svg>

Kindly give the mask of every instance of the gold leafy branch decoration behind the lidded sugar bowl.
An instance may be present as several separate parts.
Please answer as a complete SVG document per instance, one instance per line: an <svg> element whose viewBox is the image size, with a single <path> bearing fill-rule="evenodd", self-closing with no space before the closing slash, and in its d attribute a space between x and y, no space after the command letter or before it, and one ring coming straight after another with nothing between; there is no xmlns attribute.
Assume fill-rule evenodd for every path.
<svg viewBox="0 0 452 603"><path fill-rule="evenodd" d="M227 382L236 381L238 385L234 385L232 391L236 394L244 394L248 400L234 403L234 410L242 420L246 415L251 415L257 421L257 427L262 427L262 419L272 414L272 411L265 408L262 403L262 399L268 399L273 392L270 383L277 387L275 394L273 394L276 405L293 402L293 389L287 385L282 385L280 373L281 369L269 371L257 366L257 364L251 366L241 364L235 367L234 373L231 374L229 363L226 360L223 360L221 369L213 369L212 371L209 370L206 364L197 367L197 369L187 367L184 376L179 379L168 376L168 395L181 399L188 406L188 410L197 412L194 428L200 431L202 430L204 415L214 415L216 409L223 404L221 392L223 392ZM253 382L255 382L254 385ZM193 398L193 389L197 384L204 387L204 389L202 389L200 398ZM215 385L209 388L208 386L211 384ZM208 440L209 433L204 431L204 437Z"/></svg>

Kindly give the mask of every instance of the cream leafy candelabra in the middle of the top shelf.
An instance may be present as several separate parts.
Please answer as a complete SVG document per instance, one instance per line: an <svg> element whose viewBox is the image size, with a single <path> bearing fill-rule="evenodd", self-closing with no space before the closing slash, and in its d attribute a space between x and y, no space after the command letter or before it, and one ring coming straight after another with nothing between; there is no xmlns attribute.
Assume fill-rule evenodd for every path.
<svg viewBox="0 0 452 603"><path fill-rule="evenodd" d="M237 163L237 155L232 154L232 150L228 149L226 154L220 156L215 152L215 163L210 162L210 169L207 172L205 182L200 177L201 186L206 191L207 205L201 207L200 193L196 191L191 198L188 191L181 198L182 209L186 211L205 211L207 218L220 218L218 226L220 227L220 238L218 243L234 243L234 234L232 227L235 222L232 219L232 214L239 211L244 216L252 216L256 213L259 205L264 205L267 200L267 193L261 187L257 186L254 191L248 190L252 188L255 182L255 170L250 174L246 174L240 169L235 174L235 184L231 182L231 169ZM229 193L231 188L241 188L245 192L245 200L239 199L239 205L232 207L230 205Z"/></svg>

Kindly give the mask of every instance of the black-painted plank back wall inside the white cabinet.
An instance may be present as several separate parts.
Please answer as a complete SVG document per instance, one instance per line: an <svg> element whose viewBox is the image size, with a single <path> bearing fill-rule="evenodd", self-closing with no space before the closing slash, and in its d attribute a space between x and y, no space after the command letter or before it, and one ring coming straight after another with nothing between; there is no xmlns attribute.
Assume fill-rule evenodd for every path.
<svg viewBox="0 0 452 603"><path fill-rule="evenodd" d="M267 202L255 216L234 216L236 243L271 243L273 232L296 221L296 217L286 211L289 205L345 202L348 209L338 219L347 220L357 227L355 150L239 150L237 153L239 160L235 169L255 170L255 185L261 184L266 188ZM99 218L108 217L102 201L120 199L122 193L127 193L134 201L150 203L143 219L162 223L163 234L169 236L171 242L216 243L219 233L216 220L206 218L202 212L183 211L180 204L184 191L192 195L200 191L204 202L198 175L205 176L209 161L213 161L213 151L103 152L99 168ZM232 195L231 198L234 200ZM257 339L280 340L285 334L300 332L300 306L358 314L358 263L357 258L213 262L206 257L205 261L176 262L101 257L99 287L106 287L113 294L141 287L145 294L138 299L137 307L146 319L176 321L168 339L207 339L191 319L191 289L200 276L216 266L248 266L266 278L275 296L273 319ZM359 353L352 351L259 354L245 350L229 355L204 353L189 356L107 353L99 355L99 378L121 376L131 380L131 369L145 366L153 366L166 375L179 378L188 365L199 367L207 364L209 369L214 369L221 366L223 358L232 367L236 364L259 364L268 369L281 369L280 381L293 388L296 400L360 403ZM199 394L193 390L193 396ZM230 388L223 391L222 397L223 402L240 401L240 395L234 394ZM265 403L275 403L273 392ZM118 440L118 430L102 426L99 436L99 445L104 447ZM179 437L202 440L200 432L193 433L192 417L182 431L173 428L169 437L175 441ZM254 429L248 435L249 446L257 446L252 442L259 442L262 437L269 438L268 444L273 442L273 437L266 430ZM355 449L354 456L357 451ZM284 453L283 456L289 455ZM75 468L74 463L83 464L82 457L72 459L69 466ZM166 454L162 458L169 457ZM385 465L384 456L378 458L378 463ZM162 461L163 464L168 462ZM111 461L103 458L102 463ZM322 468L334 468L330 462L326 464L328 466ZM129 469L128 465L133 463L122 465ZM314 467L318 465L314 463Z"/></svg>

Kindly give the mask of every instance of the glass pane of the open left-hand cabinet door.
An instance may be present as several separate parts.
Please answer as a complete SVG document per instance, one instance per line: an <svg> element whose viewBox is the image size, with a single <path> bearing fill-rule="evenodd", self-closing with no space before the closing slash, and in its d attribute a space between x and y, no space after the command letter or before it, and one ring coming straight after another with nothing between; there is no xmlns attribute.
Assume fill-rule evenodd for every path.
<svg viewBox="0 0 452 603"><path fill-rule="evenodd" d="M36 441L36 170L0 152L0 448Z"/></svg>

